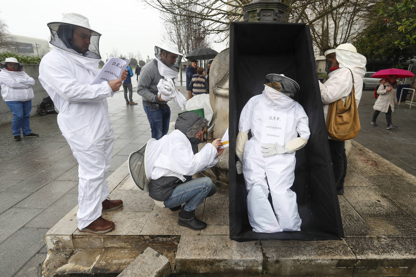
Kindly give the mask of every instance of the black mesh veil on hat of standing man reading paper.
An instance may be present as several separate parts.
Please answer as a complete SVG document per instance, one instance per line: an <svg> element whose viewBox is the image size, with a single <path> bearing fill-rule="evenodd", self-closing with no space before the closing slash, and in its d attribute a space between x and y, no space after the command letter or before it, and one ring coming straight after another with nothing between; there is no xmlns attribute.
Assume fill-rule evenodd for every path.
<svg viewBox="0 0 416 277"><path fill-rule="evenodd" d="M89 57L92 59L101 59L99 53L99 39L101 34L85 27L61 22L52 22L48 24L48 27L51 32L50 44L73 54ZM77 48L74 46L74 32L80 32L83 35L91 35L90 44L85 53L77 50Z"/></svg>

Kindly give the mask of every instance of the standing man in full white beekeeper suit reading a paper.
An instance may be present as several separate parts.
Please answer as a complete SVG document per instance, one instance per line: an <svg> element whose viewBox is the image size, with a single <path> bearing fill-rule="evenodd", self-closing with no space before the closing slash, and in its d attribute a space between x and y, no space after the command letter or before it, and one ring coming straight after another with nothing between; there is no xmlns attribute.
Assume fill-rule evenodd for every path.
<svg viewBox="0 0 416 277"><path fill-rule="evenodd" d="M90 85L99 72L101 34L89 27L86 17L76 13L63 14L61 21L50 22L48 27L50 43L58 48L42 58L39 80L59 110L59 129L79 164L78 229L106 233L114 223L102 218L102 211L123 205L121 200L107 199L114 132L106 98L119 90L127 73Z"/></svg>

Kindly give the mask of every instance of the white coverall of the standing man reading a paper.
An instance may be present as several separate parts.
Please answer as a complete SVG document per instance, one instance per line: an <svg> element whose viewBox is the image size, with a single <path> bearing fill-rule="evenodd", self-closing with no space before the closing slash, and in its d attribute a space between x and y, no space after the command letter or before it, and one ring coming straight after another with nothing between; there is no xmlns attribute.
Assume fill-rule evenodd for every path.
<svg viewBox="0 0 416 277"><path fill-rule="evenodd" d="M114 132L106 98L112 90L106 81L90 85L99 61L57 48L39 66L39 81L59 110L59 129L79 164L79 230L101 216L102 202L109 196Z"/></svg>

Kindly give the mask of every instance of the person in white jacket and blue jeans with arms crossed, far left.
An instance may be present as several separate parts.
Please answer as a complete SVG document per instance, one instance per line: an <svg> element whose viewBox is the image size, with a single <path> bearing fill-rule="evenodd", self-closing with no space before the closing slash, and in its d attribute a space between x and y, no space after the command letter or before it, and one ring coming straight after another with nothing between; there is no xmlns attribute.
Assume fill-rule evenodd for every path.
<svg viewBox="0 0 416 277"><path fill-rule="evenodd" d="M0 71L1 95L7 106L13 113L12 132L16 141L23 137L38 137L30 129L29 117L32 110L32 99L34 97L32 86L35 80L22 69L23 64L16 58L6 58L2 61Z"/></svg>

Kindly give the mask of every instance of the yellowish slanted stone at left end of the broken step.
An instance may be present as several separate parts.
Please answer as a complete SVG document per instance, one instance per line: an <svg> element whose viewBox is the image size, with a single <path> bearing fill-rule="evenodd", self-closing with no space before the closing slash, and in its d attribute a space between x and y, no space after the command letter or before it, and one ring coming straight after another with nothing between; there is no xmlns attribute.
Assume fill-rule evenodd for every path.
<svg viewBox="0 0 416 277"><path fill-rule="evenodd" d="M67 264L59 267L56 273L87 273L92 269L102 252L102 249L83 249L76 251L68 259Z"/></svg>

